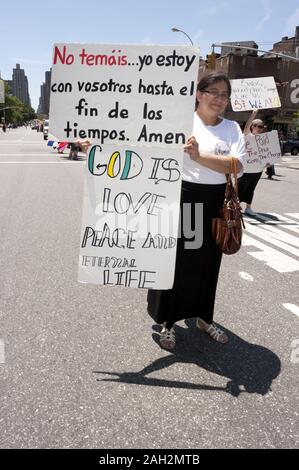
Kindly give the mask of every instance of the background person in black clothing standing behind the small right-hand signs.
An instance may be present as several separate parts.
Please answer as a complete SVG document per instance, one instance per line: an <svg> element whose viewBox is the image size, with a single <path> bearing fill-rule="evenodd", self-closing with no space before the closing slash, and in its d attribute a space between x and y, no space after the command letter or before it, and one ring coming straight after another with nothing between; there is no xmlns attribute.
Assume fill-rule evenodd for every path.
<svg viewBox="0 0 299 470"><path fill-rule="evenodd" d="M252 111L250 118L245 124L244 135L257 135L264 132L264 122L261 119L256 119L258 110ZM256 214L251 209L251 204L254 196L254 190L262 176L262 171L256 173L243 173L239 180L239 199L241 202L246 203L244 213L254 217Z"/></svg>

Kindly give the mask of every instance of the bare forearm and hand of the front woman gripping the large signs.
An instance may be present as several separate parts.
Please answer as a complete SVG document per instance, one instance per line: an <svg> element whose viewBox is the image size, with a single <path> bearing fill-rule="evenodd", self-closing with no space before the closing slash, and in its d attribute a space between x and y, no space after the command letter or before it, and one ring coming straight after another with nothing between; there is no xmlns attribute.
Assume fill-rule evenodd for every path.
<svg viewBox="0 0 299 470"><path fill-rule="evenodd" d="M218 173L229 173L230 171L230 157L199 152L198 143L193 136L189 137L187 140L184 150L189 154L192 160L200 163L200 165L203 165L210 170L217 171ZM240 173L243 170L243 165L238 159L236 159L236 167L237 173Z"/></svg>

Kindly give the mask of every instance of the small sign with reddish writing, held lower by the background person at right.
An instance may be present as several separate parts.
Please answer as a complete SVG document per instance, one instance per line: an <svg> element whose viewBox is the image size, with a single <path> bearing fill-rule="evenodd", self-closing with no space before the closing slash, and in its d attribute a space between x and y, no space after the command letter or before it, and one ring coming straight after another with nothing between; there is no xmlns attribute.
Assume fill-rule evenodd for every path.
<svg viewBox="0 0 299 470"><path fill-rule="evenodd" d="M246 158L243 162L245 173L258 173L267 164L281 160L281 148L277 131L245 136Z"/></svg>

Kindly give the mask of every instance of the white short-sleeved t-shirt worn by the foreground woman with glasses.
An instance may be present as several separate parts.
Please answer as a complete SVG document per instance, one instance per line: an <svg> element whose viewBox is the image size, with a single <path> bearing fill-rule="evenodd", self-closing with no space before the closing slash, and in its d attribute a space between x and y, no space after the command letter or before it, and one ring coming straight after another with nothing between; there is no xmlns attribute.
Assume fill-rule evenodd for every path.
<svg viewBox="0 0 299 470"><path fill-rule="evenodd" d="M244 136L239 124L229 119L220 119L222 121L216 126L207 126L198 114L194 113L192 135L198 142L199 151L213 155L232 155L242 162L245 159L246 151ZM238 174L238 177L241 174ZM226 183L224 173L218 173L200 165L192 160L187 153L184 153L182 179L201 184Z"/></svg>

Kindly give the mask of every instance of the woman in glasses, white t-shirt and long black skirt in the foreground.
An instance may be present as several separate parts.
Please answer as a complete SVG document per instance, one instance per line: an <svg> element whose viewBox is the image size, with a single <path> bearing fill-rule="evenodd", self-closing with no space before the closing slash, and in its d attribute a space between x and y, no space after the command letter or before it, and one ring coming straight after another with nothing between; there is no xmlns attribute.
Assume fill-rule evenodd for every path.
<svg viewBox="0 0 299 470"><path fill-rule="evenodd" d="M196 230L203 230L200 248L192 249L185 241L184 230L177 242L175 277L172 289L148 291L148 313L163 324L160 345L175 347L177 321L197 317L196 326L220 343L227 335L213 323L214 302L222 252L211 230L212 218L223 205L229 172L230 155L237 160L237 171L243 169L244 136L239 125L220 117L230 98L231 85L225 74L212 73L197 86L193 135L187 140L182 171L181 227L191 213ZM201 227L196 224L195 208L203 208ZM184 211L184 207L188 209ZM189 240L190 242L190 240Z"/></svg>

